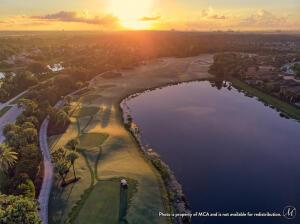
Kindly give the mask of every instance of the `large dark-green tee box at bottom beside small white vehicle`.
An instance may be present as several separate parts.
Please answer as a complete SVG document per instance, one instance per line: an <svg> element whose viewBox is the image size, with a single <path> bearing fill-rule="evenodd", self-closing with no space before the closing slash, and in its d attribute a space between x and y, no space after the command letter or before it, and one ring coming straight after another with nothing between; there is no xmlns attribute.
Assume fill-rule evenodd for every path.
<svg viewBox="0 0 300 224"><path fill-rule="evenodd" d="M74 223L119 224L120 215L126 214L135 191L134 181L128 182L128 189L124 191L126 195L120 194L119 179L97 182Z"/></svg>

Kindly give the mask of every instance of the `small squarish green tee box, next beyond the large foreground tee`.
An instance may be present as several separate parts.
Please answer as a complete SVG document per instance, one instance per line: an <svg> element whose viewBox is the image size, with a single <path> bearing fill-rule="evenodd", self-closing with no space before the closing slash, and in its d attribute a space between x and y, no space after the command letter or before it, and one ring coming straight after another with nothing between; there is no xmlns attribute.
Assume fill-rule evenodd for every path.
<svg viewBox="0 0 300 224"><path fill-rule="evenodd" d="M107 138L108 134L105 133L84 133L79 136L79 148L90 149L100 147Z"/></svg>

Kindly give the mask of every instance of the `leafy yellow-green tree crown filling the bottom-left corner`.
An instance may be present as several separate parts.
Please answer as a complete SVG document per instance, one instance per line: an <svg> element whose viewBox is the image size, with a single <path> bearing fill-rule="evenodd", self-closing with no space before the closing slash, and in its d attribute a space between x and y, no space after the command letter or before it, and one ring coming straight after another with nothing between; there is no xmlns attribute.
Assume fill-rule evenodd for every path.
<svg viewBox="0 0 300 224"><path fill-rule="evenodd" d="M40 224L36 201L24 196L0 194L0 223Z"/></svg>

